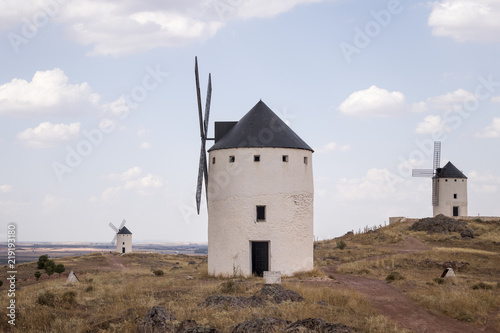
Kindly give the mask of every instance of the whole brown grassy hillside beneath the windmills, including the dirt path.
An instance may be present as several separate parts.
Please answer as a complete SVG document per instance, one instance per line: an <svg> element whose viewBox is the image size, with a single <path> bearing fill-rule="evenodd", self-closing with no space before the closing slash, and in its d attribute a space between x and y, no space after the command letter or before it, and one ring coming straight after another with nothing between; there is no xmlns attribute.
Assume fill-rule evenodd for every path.
<svg viewBox="0 0 500 333"><path fill-rule="evenodd" d="M298 293L303 300L284 302L262 300L266 289L260 278L208 276L206 256L93 253L58 258L56 263L66 266L62 277L43 275L39 281L33 276L36 263L20 264L16 326L2 316L0 329L137 332L146 313L162 305L173 315L168 329L183 332L257 332L263 327L270 332L287 327L289 332L306 332L304 327L347 332L333 324L352 332L500 332L500 222L467 222L474 238L463 238L460 231L428 233L410 227L396 223L315 243L315 270L283 279L287 295ZM456 277L440 278L445 267L452 267ZM71 270L80 283L67 286L65 275ZM0 273L2 304L8 304L6 271ZM266 317L274 319L257 319ZM306 318L318 320L297 324ZM195 325L188 320L198 328L184 330Z"/></svg>

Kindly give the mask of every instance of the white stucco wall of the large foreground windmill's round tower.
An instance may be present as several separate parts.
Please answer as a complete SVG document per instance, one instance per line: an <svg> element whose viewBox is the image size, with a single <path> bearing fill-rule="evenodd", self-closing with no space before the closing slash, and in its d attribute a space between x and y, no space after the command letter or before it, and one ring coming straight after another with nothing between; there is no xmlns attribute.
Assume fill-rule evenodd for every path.
<svg viewBox="0 0 500 333"><path fill-rule="evenodd" d="M210 152L208 162L209 273L250 275L252 241L270 242L269 270L292 275L313 269L312 152L222 149ZM265 222L256 221L257 205L266 206Z"/></svg>

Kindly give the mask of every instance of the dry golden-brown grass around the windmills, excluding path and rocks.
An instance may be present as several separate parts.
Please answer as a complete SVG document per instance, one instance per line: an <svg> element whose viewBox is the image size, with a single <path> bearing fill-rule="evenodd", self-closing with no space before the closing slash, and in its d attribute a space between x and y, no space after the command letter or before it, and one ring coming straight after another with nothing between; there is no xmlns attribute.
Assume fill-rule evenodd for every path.
<svg viewBox="0 0 500 333"><path fill-rule="evenodd" d="M198 304L208 296L248 297L262 283L256 277L210 276L206 257L202 256L134 253L118 257L96 253L58 258L56 262L64 264L67 272L74 270L79 275L81 283L73 286L66 286L65 278L35 281L36 264L21 264L18 277L22 289L16 293L19 312L12 331L136 332L137 321L152 306L161 304L175 314L178 322L196 320L223 332L242 321L264 316L291 321L323 318L346 324L356 332L409 332L382 316L356 291L327 279L321 268L330 265L340 273L379 280L397 270L405 279L394 282L394 287L418 304L476 325L484 324L487 318L498 318L500 331L500 256L498 245L493 243L500 241L500 226L479 222L470 226L476 230L473 240L453 238L456 235L452 234L414 233L408 231L408 225L398 223L374 233L317 242L315 269L283 278L283 285L301 294L304 301L268 303L262 308L200 308ZM425 241L430 249L402 253L398 250L404 244L401 233ZM340 240L346 244L344 249L337 247ZM445 261L470 265L456 270L455 279L437 279ZM159 270L163 276L154 275ZM243 284L237 282L240 279ZM54 304L39 304L39 296L46 293L54 295ZM6 301L7 293L0 292L0 302ZM0 331L11 329L6 317L1 317Z"/></svg>

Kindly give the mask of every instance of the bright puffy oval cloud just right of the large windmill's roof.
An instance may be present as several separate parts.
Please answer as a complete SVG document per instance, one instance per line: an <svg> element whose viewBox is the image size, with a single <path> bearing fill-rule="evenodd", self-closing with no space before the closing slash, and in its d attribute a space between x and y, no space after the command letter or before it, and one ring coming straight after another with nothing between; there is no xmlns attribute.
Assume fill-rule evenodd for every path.
<svg viewBox="0 0 500 333"><path fill-rule="evenodd" d="M398 92L371 86L352 93L340 104L338 110L346 115L360 117L385 117L408 110L405 96Z"/></svg>

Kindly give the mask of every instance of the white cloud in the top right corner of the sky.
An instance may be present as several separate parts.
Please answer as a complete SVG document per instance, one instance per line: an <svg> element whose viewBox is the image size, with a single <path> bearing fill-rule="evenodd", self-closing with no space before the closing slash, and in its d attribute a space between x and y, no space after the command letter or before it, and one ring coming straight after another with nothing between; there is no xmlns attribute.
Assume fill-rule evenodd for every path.
<svg viewBox="0 0 500 333"><path fill-rule="evenodd" d="M428 24L434 36L457 42L500 42L498 0L442 0L432 3Z"/></svg>

